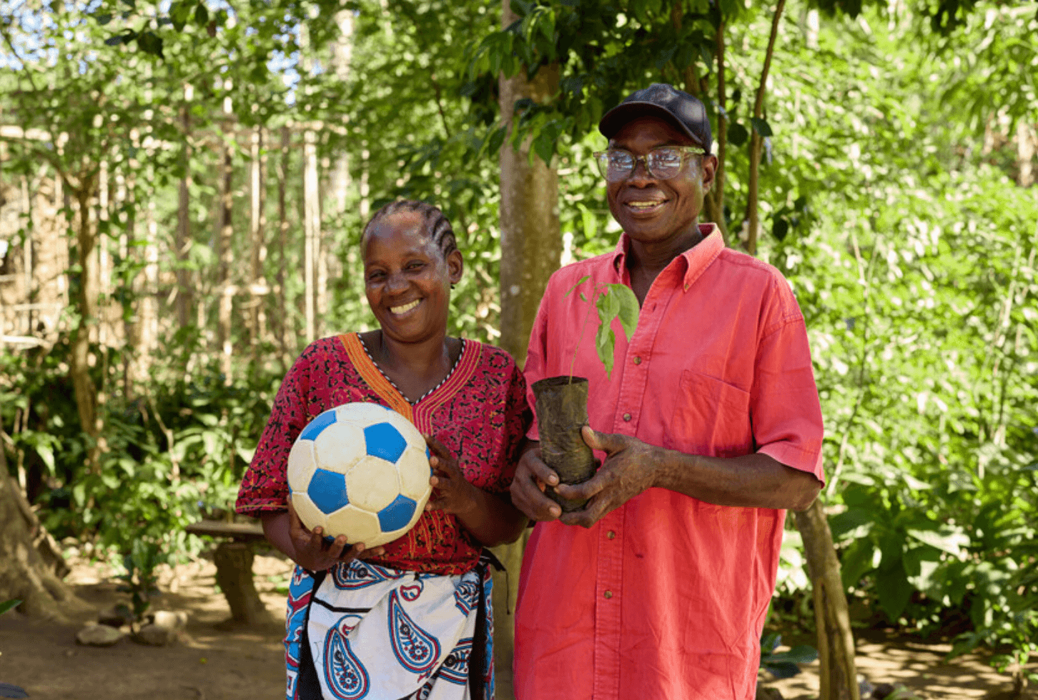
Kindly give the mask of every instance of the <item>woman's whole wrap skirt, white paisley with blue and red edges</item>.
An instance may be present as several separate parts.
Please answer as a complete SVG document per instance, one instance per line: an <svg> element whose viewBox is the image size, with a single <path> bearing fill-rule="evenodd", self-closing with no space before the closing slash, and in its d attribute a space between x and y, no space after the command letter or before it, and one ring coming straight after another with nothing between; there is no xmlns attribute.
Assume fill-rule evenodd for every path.
<svg viewBox="0 0 1038 700"><path fill-rule="evenodd" d="M490 564L485 555L458 576L360 560L317 575L296 566L286 700L493 698Z"/></svg>

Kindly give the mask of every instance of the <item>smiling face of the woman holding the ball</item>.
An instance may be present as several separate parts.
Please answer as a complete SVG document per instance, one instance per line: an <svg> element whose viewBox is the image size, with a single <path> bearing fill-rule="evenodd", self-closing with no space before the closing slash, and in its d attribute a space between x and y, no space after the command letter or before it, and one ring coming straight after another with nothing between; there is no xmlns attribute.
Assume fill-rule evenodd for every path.
<svg viewBox="0 0 1038 700"><path fill-rule="evenodd" d="M457 250L444 258L416 212L391 214L364 236L364 293L382 332L400 342L446 333L450 285L461 279Z"/></svg>

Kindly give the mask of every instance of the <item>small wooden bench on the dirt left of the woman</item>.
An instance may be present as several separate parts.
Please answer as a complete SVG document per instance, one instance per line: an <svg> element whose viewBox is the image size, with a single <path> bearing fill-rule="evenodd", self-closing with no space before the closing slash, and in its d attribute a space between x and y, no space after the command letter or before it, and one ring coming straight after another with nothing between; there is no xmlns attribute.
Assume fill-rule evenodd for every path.
<svg viewBox="0 0 1038 700"><path fill-rule="evenodd" d="M199 521L185 529L194 535L223 540L213 553L213 563L216 583L230 607L230 619L225 626L276 623L260 599L252 580L253 544L265 539L263 526L258 522Z"/></svg>

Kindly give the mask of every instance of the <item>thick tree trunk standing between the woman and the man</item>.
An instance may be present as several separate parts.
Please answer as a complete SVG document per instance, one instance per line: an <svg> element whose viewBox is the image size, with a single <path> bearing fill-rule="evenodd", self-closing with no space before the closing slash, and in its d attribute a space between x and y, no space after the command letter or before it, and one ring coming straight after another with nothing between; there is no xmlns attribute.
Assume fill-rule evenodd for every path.
<svg viewBox="0 0 1038 700"><path fill-rule="evenodd" d="M510 0L501 2L501 26L516 20ZM499 80L501 119L511 127L515 103L524 97L537 102L549 100L558 88L558 66L542 67L532 81L520 71L514 78ZM562 235L558 226L558 172L540 158L529 162L530 142L516 150L507 138L501 146L499 206L501 227L500 268L500 345L520 366L526 359L526 346L534 318L548 278L558 269ZM512 652L514 648L516 595L525 537L514 544L494 550L508 568L507 577L494 575L494 664L501 680L498 697L510 697ZM511 613L511 614L510 614Z"/></svg>

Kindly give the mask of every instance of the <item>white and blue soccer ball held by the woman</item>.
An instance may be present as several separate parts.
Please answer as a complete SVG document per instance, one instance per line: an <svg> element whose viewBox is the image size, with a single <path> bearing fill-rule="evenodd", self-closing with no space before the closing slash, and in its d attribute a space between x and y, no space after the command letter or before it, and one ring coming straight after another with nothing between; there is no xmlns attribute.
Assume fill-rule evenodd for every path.
<svg viewBox="0 0 1038 700"><path fill-rule="evenodd" d="M385 544L421 516L432 492L429 456L418 428L394 411L376 403L329 409L289 453L292 505L310 530Z"/></svg>

